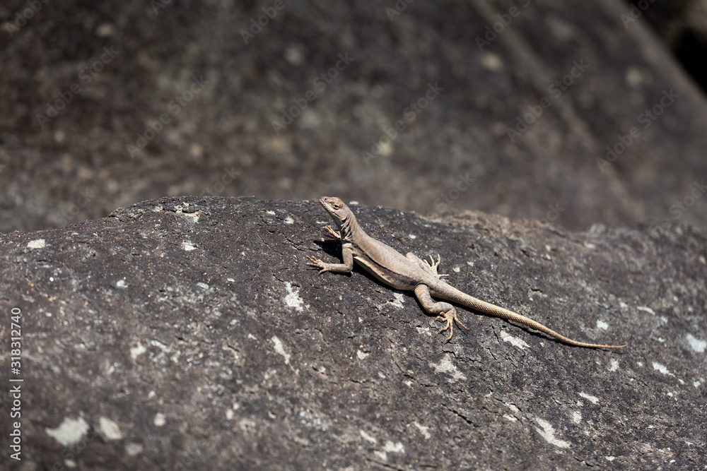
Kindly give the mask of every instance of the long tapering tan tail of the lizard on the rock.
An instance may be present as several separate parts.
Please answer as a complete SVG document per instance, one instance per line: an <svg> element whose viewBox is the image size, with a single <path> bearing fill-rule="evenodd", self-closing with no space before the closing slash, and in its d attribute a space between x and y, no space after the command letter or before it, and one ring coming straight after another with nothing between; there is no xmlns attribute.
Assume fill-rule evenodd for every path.
<svg viewBox="0 0 707 471"><path fill-rule="evenodd" d="M442 299L446 299L447 301L456 302L458 304L462 304L462 306L467 306L469 309L481 311L486 314L491 314L491 316L496 316L496 317L506 319L508 321L519 323L521 326L526 326L526 327L530 327L535 330L539 330L540 332L544 333L545 335L548 335L549 337L554 338L555 340L559 340L560 342L564 342L567 345L574 345L575 347L588 347L588 348L622 348L622 347L626 347L626 345L599 345L597 343L578 342L577 340L572 340L571 338L566 338L564 335L560 335L559 333L556 333L551 328L547 328L547 327L543 326L541 323L533 321L531 318L527 318L527 317L522 316L520 314L516 314L513 311L508 311L508 309L503 309L502 307L498 307L494 304L491 304L491 303L488 303L485 301L481 301L481 299L477 299L473 296L469 296L469 294L466 294L463 291L457 290L455 287L453 287L451 285L447 285L446 283L440 283L440 286L435 287L435 289L431 290L431 292L432 292L431 294L433 297L440 297Z"/></svg>

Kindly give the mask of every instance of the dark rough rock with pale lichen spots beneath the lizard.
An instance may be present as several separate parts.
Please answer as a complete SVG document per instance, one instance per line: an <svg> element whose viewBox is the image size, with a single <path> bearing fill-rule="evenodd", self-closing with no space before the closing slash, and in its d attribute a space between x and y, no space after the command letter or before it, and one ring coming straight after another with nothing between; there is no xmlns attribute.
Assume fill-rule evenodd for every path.
<svg viewBox="0 0 707 471"><path fill-rule="evenodd" d="M315 202L163 198L0 236L0 466L81 470L703 469L707 233L568 232L352 206L453 285L579 340L461 310L443 344ZM21 466L8 342L21 310ZM17 377L17 376L13 376ZM80 437L80 438L79 438ZM55 466L55 464L58 465Z"/></svg>

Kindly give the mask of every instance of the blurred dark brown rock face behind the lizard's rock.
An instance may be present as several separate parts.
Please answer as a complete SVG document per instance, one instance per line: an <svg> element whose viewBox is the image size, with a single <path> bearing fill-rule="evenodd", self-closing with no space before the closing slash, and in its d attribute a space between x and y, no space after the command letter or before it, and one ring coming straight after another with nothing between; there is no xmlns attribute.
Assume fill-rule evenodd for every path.
<svg viewBox="0 0 707 471"><path fill-rule="evenodd" d="M414 1L392 21L393 0L287 0L248 44L240 31L274 0L40 4L12 35L27 0L0 4L1 232L203 193L337 194L422 214L448 195L455 210L549 215L575 229L707 221L707 198L670 212L707 178L705 97L645 16L624 25L619 0ZM479 51L477 37L511 7L518 16ZM119 54L94 68L111 47ZM319 91L315 78L346 52L354 61L275 133L281 110ZM575 61L589 67L551 92ZM208 84L175 114L170 102L194 76ZM428 83L444 90L366 165L361 151ZM81 93L42 127L37 115L74 84ZM660 109L664 90L679 99ZM511 142L508 126L544 97L551 107ZM170 122L154 124L162 114ZM640 136L600 171L597 158L633 127ZM139 134L152 139L130 155ZM467 173L475 181L457 195Z"/></svg>

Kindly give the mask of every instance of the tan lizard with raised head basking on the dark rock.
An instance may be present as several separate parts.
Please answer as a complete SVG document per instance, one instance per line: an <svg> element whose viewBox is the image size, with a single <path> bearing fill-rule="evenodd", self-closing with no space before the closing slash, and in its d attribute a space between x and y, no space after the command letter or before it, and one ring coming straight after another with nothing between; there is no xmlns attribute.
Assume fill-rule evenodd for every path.
<svg viewBox="0 0 707 471"><path fill-rule="evenodd" d="M513 311L500 306L481 301L470 296L452 285L449 285L443 276L438 274L437 267L440 264L440 256L437 261L430 256L430 261L422 260L412 252L403 256L399 251L391 246L373 239L363 231L354 213L341 201L340 198L322 196L320 203L332 217L338 227L334 231L332 227L326 226L324 229L335 239L341 242L341 258L344 263L325 263L314 256L307 255L307 265L320 269L320 275L325 272L350 274L354 269L354 261L368 271L375 279L385 285L389 285L397 290L412 291L417 301L429 314L437 314L436 320L445 323L439 333L449 330L449 336L445 342L452 339L454 323L456 322L464 330L469 329L464 326L457 316L457 309L448 302L439 302L432 297L444 299L445 301L460 304L469 309L481 311L491 316L500 317L507 321L519 323L521 326L539 330L550 338L559 342L573 345L575 347L588 348L621 348L626 345L599 345L596 343L579 342L564 335L556 333L531 318L516 314Z"/></svg>

